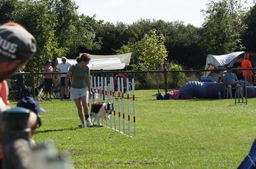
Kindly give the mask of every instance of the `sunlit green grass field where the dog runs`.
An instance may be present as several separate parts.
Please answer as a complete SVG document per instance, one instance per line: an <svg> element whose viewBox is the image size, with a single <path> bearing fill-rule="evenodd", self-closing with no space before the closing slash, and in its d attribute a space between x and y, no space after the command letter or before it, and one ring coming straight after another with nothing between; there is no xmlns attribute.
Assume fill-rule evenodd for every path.
<svg viewBox="0 0 256 169"><path fill-rule="evenodd" d="M74 168L237 168L255 139L256 98L235 105L231 99L156 100L155 90L143 92L152 97L136 97L136 138L81 128L74 102L54 100L40 102L47 112L34 139L53 139Z"/></svg>

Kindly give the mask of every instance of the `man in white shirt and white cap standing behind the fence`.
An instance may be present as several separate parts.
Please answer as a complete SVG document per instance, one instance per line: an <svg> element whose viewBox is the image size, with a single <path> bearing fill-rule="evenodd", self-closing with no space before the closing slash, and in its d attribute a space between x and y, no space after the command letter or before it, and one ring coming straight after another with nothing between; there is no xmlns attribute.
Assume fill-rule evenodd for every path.
<svg viewBox="0 0 256 169"><path fill-rule="evenodd" d="M61 73L68 73L69 68L72 66L70 63L67 63L67 58L66 57L62 57L61 58L62 63L58 64L56 67L53 68L54 71L56 71L57 69L61 72ZM61 92L61 99L64 98L64 92L65 92L65 78L66 78L67 74L61 74L60 76L60 92ZM69 79L69 83L70 83L70 79ZM69 96L66 96L67 98Z"/></svg>

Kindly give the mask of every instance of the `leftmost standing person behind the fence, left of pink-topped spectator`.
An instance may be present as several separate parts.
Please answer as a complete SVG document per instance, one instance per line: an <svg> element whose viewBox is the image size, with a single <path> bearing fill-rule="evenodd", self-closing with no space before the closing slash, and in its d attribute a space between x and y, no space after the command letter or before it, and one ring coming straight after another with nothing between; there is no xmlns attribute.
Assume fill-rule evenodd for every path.
<svg viewBox="0 0 256 169"><path fill-rule="evenodd" d="M23 69L18 69L18 73L24 72ZM20 100L24 98L25 94L25 76L24 75L16 75L16 83L17 83L17 96L16 100Z"/></svg>

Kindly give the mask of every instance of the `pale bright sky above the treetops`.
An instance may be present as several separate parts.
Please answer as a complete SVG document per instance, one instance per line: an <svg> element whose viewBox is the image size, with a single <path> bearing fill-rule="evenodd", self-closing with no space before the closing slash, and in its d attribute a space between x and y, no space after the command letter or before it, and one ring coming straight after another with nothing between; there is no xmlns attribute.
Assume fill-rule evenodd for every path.
<svg viewBox="0 0 256 169"><path fill-rule="evenodd" d="M201 26L204 21L202 9L208 0L75 0L79 14L93 16L97 20L131 24L141 18L184 21L185 24ZM244 2L244 1L243 1ZM253 0L247 0L249 6Z"/></svg>

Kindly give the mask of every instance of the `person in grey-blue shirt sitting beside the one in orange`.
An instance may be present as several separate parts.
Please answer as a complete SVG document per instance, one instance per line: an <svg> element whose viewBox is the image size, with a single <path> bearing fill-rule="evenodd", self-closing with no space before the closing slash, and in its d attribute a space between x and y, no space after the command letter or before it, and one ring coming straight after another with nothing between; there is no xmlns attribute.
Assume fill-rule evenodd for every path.
<svg viewBox="0 0 256 169"><path fill-rule="evenodd" d="M243 92L241 85L238 84L238 77L236 74L232 73L232 67L228 66L227 67L227 73L223 77L223 82L225 83L226 87L228 88L228 93L230 95L230 98L232 99L232 88L236 88L239 90L241 98L243 98Z"/></svg>

